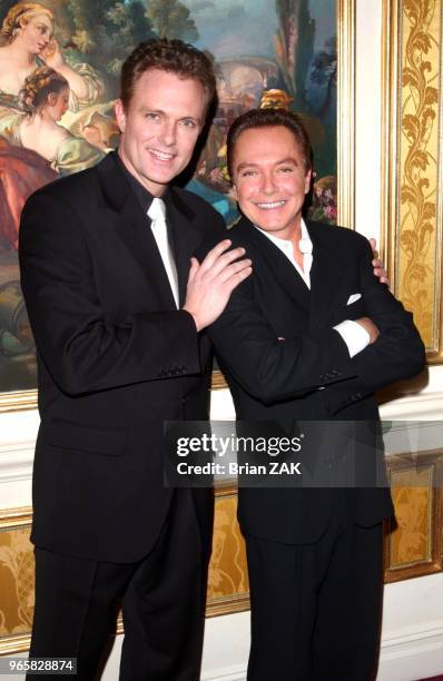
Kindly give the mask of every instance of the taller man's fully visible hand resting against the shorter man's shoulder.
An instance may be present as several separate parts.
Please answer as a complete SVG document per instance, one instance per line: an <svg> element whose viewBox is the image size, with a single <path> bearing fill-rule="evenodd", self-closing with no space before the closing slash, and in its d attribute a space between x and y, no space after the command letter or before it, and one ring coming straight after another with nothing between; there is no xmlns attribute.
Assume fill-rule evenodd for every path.
<svg viewBox="0 0 443 681"><path fill-rule="evenodd" d="M249 259L238 259L245 255L245 249L227 250L229 246L229 239L220 241L201 264L196 258L190 259L183 308L193 315L198 332L220 316L234 288L253 272Z"/></svg>

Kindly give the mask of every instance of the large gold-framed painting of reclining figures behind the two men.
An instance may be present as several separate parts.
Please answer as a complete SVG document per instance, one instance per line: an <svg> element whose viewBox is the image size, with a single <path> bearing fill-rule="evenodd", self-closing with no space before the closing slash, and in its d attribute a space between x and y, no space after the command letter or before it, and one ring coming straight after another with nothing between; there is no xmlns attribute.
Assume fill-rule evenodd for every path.
<svg viewBox="0 0 443 681"><path fill-rule="evenodd" d="M47 50L48 53L35 56L36 67L41 68L52 62L56 65L56 61L61 59L65 60L63 68L73 69L77 76L85 80L85 87L88 90L87 98L83 101L80 96L71 91L71 99L75 100L76 106L70 107L63 114L60 125L69 130L70 139L68 141L70 144L77 140L80 146L87 144L92 148L96 145L101 152L116 144L116 129L115 126L112 127L111 115L112 98L117 96L118 71L128 47L125 43L127 37L124 39L127 31L126 29L126 32L120 31L125 23L122 17L117 17L117 10L115 9L109 12L97 9L100 16L92 20L93 12L97 13L96 3L91 3L90 7L88 4L88 11L82 11L81 17L72 14L76 11L73 9L75 3L42 0L40 4L47 8L48 17L52 12L51 21L56 27L55 37L58 48L53 51L51 47L53 53ZM100 0L97 8L100 6L102 9L105 4L106 0ZM284 96L287 106L305 116L306 126L313 138L314 155L318 169L313 206L315 218L331 223L339 221L344 226L352 227L354 221L355 0L325 0L321 8L314 0L276 1L275 3L265 0L259 2L246 0L243 3L247 6L246 9L242 3L238 3L236 13L233 13L232 3L229 7L226 4L226 16L224 16L224 2L218 2L217 12L220 14L220 20L223 19L222 23L223 26L227 23L226 30L224 29L226 40L223 46L225 50L223 58L217 53L217 49L222 49L220 43L223 41L218 40L218 47L216 47L214 36L205 34L209 24L213 26L211 31L214 33L214 21L208 22L207 20L204 30L203 12L206 10L200 7L200 3L193 0L183 0L178 4L183 6L181 10L185 14L187 12L187 20L181 22L180 26L177 22L174 23L173 18L165 26L161 22L159 23L160 4L155 0L134 0L131 3L121 4L121 12L139 13L137 21L132 14L127 17L127 29L130 29L129 32L132 31L129 42L132 41L131 43L135 45L141 39L158 34L171 37L170 31L173 31L174 37L183 38L194 42L197 47L208 48L213 51L218 80L222 83L220 91L225 92L226 90L228 95L230 93L230 99L228 97L226 100L227 103L232 103L230 108L224 106L218 111L220 112L223 109L227 117L226 120L230 115L242 112L242 102L249 108L250 106L265 106L266 102L276 106L269 93L277 93L279 98ZM3 22L8 12L13 10L14 6L17 3L13 0L0 0L0 21ZM265 9L268 13L274 12L269 26L267 26L264 14ZM183 11L181 14L185 17ZM254 21L257 26L260 24L262 32L267 30L265 42L268 46L266 48L268 53L262 55L262 42L258 40L254 42L250 38L250 46L246 45L248 38L240 34L239 31L242 21L246 21L246 16L248 17L247 36L250 32L254 33ZM105 20L108 23L102 27L101 23ZM80 26L81 21L89 21L89 24ZM222 23L217 24L216 33L222 31ZM96 36L97 27L104 30ZM297 27L299 30L296 30ZM106 34L112 36L112 39L100 47L100 40ZM8 36L3 33L0 36L0 50L6 45L3 41ZM14 39L13 32L10 39ZM232 51L229 52L229 50ZM253 56L247 59L240 57L240 53L246 53L242 50L246 50L248 55ZM254 50L258 51L254 52ZM237 76L243 73L243 80L240 78L239 83L229 80L234 73L233 63L236 67L235 73ZM255 81L245 81L246 71L248 73L254 72L262 78L263 82L259 86L258 95L254 89ZM305 92L308 89L308 82L311 82L309 87L314 92L311 99L311 95L306 97ZM237 92L238 96L234 96L234 89L235 87L238 88L238 85L240 86L239 93ZM219 98L223 99L220 95ZM23 155L28 151L28 156L32 157L33 154L32 160L36 160L36 154L32 149L19 149L14 146L17 142L17 136L14 136L17 126L14 127L16 124L12 125L10 119L11 114L12 117L19 119L22 116L18 108L18 101L19 98L16 95L8 93L0 83L0 164L7 162L8 157L11 156L10 145L14 149L12 156L16 165L23 162ZM292 103L289 105L289 102ZM238 109L238 107L240 108ZM2 112L6 114L4 119L1 116ZM55 121L56 124L58 121ZM223 125L225 124L220 124L222 128ZM197 174L193 181L195 185L199 184L199 186L204 186L205 181L208 182L208 187L205 189L205 191L208 191L208 196L205 191L201 195L214 205L223 204L225 206L226 204L233 206L233 201L227 200L229 199L228 184L224 177L223 155L220 157L223 148L223 145L220 147L219 144L223 138L223 135L220 137L220 126L217 130L215 129L216 126L213 126L216 132L213 137L217 144L213 145L211 151L208 151L210 147L210 144L208 144L204 155L211 155L213 161L214 155L222 160L217 160L217 167L213 167L204 156L201 162L199 161L197 166ZM11 139L8 138L8 135L12 136ZM28 157L27 159L30 162ZM81 169L81 167L83 167L81 164L76 166L77 169ZM61 167L51 167L49 170L51 172L71 171ZM17 175L17 168L14 172ZM49 181L49 179L46 178L45 181ZM196 190L195 186L189 188ZM6 191L4 187L3 190ZM20 200L24 198L21 197ZM4 234L0 229L0 236L2 235L0 239L0 412L28 409L37 406L36 391L26 389L28 387L33 388L36 385L36 362L32 336L22 305L17 255L14 254L14 249L17 253L20 206L16 201L10 208L9 213L7 210L8 215L4 214L3 217L4 219L8 218L11 225L8 228L4 227L3 219ZM228 216L225 217L229 221ZM6 250L7 246L9 250ZM213 387L224 387L224 385L220 374L215 372Z"/></svg>

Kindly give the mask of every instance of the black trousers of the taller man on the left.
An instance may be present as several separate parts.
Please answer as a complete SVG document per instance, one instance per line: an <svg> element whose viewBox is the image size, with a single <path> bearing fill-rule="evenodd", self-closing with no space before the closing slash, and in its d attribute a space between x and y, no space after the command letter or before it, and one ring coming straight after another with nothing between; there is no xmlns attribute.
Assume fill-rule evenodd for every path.
<svg viewBox="0 0 443 681"><path fill-rule="evenodd" d="M121 606L120 680L197 681L206 549L190 490L176 491L158 541L138 563L79 560L36 547L30 658L77 658L75 678L92 681Z"/></svg>

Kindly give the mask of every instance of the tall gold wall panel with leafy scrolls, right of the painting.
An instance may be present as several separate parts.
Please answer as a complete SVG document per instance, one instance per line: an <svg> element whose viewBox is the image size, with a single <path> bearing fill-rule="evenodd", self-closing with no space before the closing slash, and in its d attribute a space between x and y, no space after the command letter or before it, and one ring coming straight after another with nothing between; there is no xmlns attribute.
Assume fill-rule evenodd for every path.
<svg viewBox="0 0 443 681"><path fill-rule="evenodd" d="M430 362L442 363L442 0L383 7L385 259Z"/></svg>

